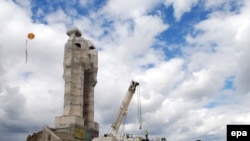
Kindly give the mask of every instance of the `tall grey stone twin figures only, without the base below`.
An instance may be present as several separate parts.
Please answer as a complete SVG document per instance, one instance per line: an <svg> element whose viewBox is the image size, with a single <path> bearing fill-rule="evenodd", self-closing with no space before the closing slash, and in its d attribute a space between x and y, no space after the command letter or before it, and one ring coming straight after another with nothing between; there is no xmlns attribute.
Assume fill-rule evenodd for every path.
<svg viewBox="0 0 250 141"><path fill-rule="evenodd" d="M69 39L65 44L63 63L64 112L57 123L64 123L73 118L84 125L94 126L94 87L97 83L98 53L91 41L81 37L81 31L77 27L70 28L67 35Z"/></svg>

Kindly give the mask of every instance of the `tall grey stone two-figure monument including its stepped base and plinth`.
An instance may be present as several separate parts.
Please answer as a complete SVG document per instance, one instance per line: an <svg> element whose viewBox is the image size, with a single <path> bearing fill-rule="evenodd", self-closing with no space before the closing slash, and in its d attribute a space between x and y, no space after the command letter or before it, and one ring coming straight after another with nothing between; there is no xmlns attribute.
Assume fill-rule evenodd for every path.
<svg viewBox="0 0 250 141"><path fill-rule="evenodd" d="M73 26L64 49L63 115L56 117L55 128L43 127L27 141L91 141L99 135L94 122L94 87L97 83L98 53L93 43Z"/></svg>

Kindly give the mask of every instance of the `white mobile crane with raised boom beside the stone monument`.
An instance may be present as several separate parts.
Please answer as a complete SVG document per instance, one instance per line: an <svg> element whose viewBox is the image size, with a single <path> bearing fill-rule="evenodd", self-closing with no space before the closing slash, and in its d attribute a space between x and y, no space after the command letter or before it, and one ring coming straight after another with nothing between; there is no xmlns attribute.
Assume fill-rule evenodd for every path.
<svg viewBox="0 0 250 141"><path fill-rule="evenodd" d="M119 114L118 114L115 122L111 126L112 127L111 133L105 134L104 137L94 138L92 141L118 141L118 139L116 137L117 132L120 128L122 121L124 120L124 118L127 114L128 106L131 102L131 99L132 99L132 97L135 93L136 87L138 85L139 85L139 83L136 81L131 82L131 84L128 88L127 94L125 95L125 97L122 101L122 104L120 106Z"/></svg>

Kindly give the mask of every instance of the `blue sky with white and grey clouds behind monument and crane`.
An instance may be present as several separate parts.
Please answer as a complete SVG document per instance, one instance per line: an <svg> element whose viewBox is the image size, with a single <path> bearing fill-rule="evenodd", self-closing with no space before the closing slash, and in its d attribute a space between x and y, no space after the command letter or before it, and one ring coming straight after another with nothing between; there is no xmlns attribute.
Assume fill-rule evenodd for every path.
<svg viewBox="0 0 250 141"><path fill-rule="evenodd" d="M250 124L249 13L249 0L1 0L0 141L24 141L62 115L72 25L99 51L100 134L134 79L142 129L134 96L125 132L224 141L227 124Z"/></svg>

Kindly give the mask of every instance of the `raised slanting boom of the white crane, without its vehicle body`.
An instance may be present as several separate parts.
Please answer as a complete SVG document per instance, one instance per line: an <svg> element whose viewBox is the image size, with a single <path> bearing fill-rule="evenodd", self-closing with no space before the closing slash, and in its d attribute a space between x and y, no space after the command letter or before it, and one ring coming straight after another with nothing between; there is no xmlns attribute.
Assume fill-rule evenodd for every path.
<svg viewBox="0 0 250 141"><path fill-rule="evenodd" d="M124 120L124 117L127 114L128 106L131 102L131 99L132 99L132 97L135 93L136 87L138 85L139 85L139 83L136 81L133 81L133 80L132 80L131 84L129 85L127 94L125 95L125 97L122 101L122 104L120 106L119 114L118 114L115 122L111 126L113 128L113 130L111 132L112 136L116 136L116 134L120 128L120 125L121 125L122 121Z"/></svg>

